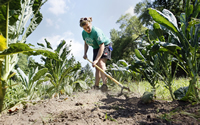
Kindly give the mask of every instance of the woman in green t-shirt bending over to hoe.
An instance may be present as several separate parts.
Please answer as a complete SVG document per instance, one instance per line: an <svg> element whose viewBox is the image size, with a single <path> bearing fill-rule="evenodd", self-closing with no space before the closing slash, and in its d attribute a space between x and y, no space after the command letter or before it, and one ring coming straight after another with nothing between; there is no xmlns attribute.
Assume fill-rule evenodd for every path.
<svg viewBox="0 0 200 125"><path fill-rule="evenodd" d="M87 51L89 46L93 48L93 62L92 66L99 66L103 71L106 70L107 60L111 60L112 43L107 38L102 30L92 26L92 17L84 17L80 19L80 27L83 28L82 37L84 40L84 55L87 59ZM107 91L107 78L98 68L95 68L95 85L94 89L99 89L99 81L102 78L102 91Z"/></svg>

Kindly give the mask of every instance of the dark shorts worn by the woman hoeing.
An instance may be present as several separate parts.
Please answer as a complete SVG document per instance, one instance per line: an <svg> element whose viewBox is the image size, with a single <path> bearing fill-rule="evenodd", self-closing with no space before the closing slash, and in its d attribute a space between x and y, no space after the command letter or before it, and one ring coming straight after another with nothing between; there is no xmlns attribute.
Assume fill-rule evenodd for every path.
<svg viewBox="0 0 200 125"><path fill-rule="evenodd" d="M111 49L112 49L112 43L105 45L105 48L104 48L101 58L106 58L106 59L111 60L111 52L112 52ZM93 61L96 59L98 52L99 52L99 48L93 49Z"/></svg>

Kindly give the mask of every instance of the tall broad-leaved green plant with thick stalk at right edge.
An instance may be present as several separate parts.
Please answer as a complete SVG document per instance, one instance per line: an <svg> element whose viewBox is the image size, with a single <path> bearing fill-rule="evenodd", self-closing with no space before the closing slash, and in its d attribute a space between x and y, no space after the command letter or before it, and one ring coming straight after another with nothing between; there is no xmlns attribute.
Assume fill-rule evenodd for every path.
<svg viewBox="0 0 200 125"><path fill-rule="evenodd" d="M196 85L200 62L198 43L200 37L200 22L192 18L197 18L200 12L200 1L196 0L194 5L191 4L191 0L186 1L185 13L180 15L180 28L178 28L176 20L172 20L169 16L166 16L164 14L165 12L172 14L166 9L162 13L149 8L149 14L153 20L166 27L170 31L170 35L175 37L173 44L166 42L158 43L157 50L168 52L175 56L187 72L188 77L191 78L189 89L182 100L199 99L199 92Z"/></svg>

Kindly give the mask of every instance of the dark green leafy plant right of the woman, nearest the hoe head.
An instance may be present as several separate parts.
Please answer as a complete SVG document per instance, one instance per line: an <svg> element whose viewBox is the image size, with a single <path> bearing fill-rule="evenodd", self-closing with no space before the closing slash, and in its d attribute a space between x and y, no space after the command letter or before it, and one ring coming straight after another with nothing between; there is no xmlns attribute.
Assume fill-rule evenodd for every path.
<svg viewBox="0 0 200 125"><path fill-rule="evenodd" d="M153 45L146 44L146 47L135 49L135 55L132 57L132 63L129 69L138 72L147 80L153 87L152 91L156 90L156 84L160 74L160 65L158 56L152 53Z"/></svg>

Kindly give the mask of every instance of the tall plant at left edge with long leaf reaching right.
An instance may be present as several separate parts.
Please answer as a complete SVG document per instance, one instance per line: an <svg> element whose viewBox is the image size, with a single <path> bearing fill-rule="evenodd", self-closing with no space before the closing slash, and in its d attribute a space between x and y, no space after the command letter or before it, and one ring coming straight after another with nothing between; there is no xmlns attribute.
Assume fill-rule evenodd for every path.
<svg viewBox="0 0 200 125"><path fill-rule="evenodd" d="M7 81L10 72L18 62L18 53L27 55L44 55L57 58L56 53L45 48L32 48L25 44L26 38L37 28L42 21L41 6L46 2L42 0L4 0L0 1L0 32L6 37L4 51L0 51L0 112L6 93ZM25 28L25 26L28 26ZM2 40L2 39L1 39ZM3 51L3 52L2 52Z"/></svg>

